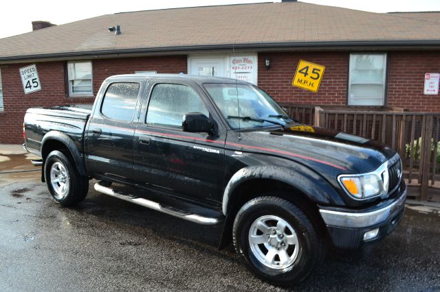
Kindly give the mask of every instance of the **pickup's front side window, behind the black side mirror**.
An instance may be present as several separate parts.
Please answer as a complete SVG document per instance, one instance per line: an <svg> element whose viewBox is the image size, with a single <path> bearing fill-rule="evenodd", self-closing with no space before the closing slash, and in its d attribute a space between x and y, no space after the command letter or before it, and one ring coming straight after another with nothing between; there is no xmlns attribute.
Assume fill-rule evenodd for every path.
<svg viewBox="0 0 440 292"><path fill-rule="evenodd" d="M181 127L184 114L201 112L209 117L209 112L190 87L180 84L157 84L153 88L146 114L146 123Z"/></svg>

